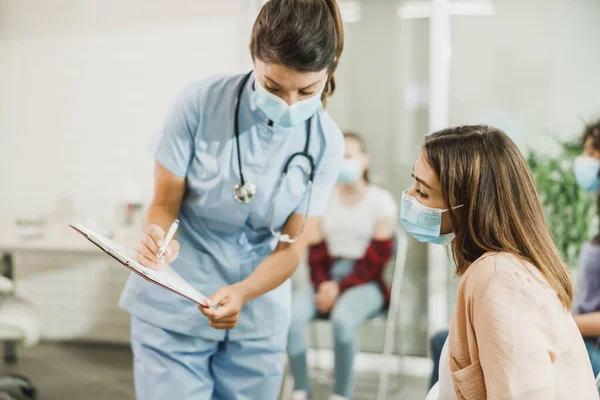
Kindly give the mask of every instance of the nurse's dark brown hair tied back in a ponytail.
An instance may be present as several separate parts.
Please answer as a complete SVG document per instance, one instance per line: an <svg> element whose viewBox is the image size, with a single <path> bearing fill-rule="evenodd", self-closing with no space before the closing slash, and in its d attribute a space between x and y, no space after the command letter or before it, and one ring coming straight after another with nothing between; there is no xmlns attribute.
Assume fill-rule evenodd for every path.
<svg viewBox="0 0 600 400"><path fill-rule="evenodd" d="M344 50L344 25L336 0L269 0L250 41L252 59L299 72L327 69L321 99L335 92L335 70Z"/></svg>

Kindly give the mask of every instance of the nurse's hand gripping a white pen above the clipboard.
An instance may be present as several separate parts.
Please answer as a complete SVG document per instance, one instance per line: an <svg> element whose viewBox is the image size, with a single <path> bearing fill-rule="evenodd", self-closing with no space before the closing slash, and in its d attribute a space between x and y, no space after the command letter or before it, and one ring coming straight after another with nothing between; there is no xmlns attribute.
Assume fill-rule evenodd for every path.
<svg viewBox="0 0 600 400"><path fill-rule="evenodd" d="M177 258L179 242L173 240L179 220L176 219L168 232L158 225L148 225L138 247L137 261L145 267L163 269Z"/></svg>

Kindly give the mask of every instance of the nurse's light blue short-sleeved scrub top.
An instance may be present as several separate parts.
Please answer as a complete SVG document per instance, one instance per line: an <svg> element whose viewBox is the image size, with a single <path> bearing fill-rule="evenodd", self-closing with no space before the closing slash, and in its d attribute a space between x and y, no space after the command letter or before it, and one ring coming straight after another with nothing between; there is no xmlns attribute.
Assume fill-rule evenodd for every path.
<svg viewBox="0 0 600 400"><path fill-rule="evenodd" d="M233 186L239 181L234 113L243 75L211 77L188 85L175 99L150 151L173 174L185 177L178 240L181 250L171 264L205 295L247 278L277 245L271 235L273 195L285 162L306 142L307 125L268 126L268 118L254 101L254 75L240 100L240 147L247 182L256 185L249 204L238 203ZM344 153L340 129L324 110L312 119L310 154L316 174L309 215L325 210ZM308 160L292 161L275 211L275 229L290 214L304 214L307 201ZM291 285L288 279L275 290L244 306L232 340L281 334L290 321ZM121 295L121 307L162 328L185 335L222 340L225 331L208 324L195 304L135 274Z"/></svg>

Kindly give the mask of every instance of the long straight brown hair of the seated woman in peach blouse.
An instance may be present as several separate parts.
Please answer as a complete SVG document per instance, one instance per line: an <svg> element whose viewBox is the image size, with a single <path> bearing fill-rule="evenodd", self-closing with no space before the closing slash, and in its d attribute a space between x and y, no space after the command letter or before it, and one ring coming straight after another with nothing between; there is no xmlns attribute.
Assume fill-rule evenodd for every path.
<svg viewBox="0 0 600 400"><path fill-rule="evenodd" d="M508 135L485 125L449 128L425 139L423 155L440 181L456 233L457 275L485 253L512 253L535 266L570 310L570 275L552 240L531 170Z"/></svg>

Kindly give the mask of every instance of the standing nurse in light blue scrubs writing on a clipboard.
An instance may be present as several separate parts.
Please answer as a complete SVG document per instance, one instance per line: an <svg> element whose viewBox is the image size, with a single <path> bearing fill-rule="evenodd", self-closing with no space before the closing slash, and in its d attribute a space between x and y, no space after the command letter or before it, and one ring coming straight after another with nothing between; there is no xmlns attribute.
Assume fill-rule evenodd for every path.
<svg viewBox="0 0 600 400"><path fill-rule="evenodd" d="M335 0L270 0L252 31L254 70L193 82L151 144L155 191L138 260L170 264L218 308L137 276L137 398L278 396L290 323L288 279L319 225L344 154L322 104L343 48ZM181 223L166 256L169 225Z"/></svg>

